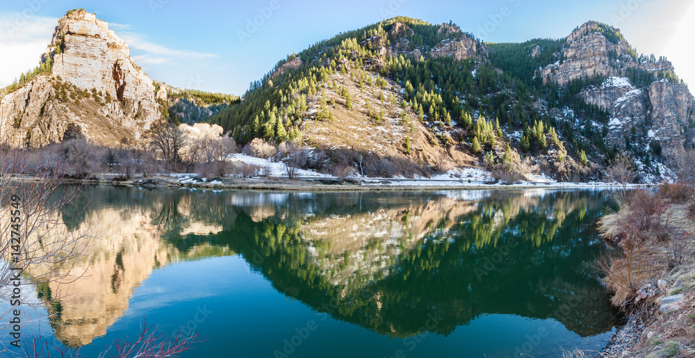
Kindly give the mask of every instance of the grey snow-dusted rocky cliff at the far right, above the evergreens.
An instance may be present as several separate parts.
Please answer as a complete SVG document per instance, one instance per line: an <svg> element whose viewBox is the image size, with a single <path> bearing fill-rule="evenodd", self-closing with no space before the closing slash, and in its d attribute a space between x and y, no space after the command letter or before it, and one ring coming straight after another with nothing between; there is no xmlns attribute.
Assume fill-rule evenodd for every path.
<svg viewBox="0 0 695 358"><path fill-rule="evenodd" d="M638 57L617 29L597 22L573 31L558 56L556 63L537 71L543 81L564 87L573 80L607 78L580 92L588 104L609 113L607 147L630 150L641 161L657 156L668 161L695 143L695 131L690 129L695 122L694 98L665 58Z"/></svg>

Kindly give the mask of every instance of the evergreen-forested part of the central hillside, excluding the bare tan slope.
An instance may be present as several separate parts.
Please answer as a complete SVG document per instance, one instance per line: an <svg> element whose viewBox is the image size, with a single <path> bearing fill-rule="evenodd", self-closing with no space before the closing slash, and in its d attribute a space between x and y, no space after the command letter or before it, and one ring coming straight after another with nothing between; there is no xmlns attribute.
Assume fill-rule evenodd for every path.
<svg viewBox="0 0 695 358"><path fill-rule="evenodd" d="M605 47L607 58L591 57L584 51L587 42ZM407 109L395 115L410 121L410 113L412 120L439 138L434 145L447 148L449 154L450 148L456 148L494 165L509 161L511 149L527 163L544 161L547 165L541 172L555 175L568 169L562 165L566 158L574 158L569 166L575 174L590 176L587 169L592 162L605 165L628 149L637 158L636 165L643 165L641 170L659 174L663 166L651 164L666 161L660 151L608 138L613 118L624 113L614 113L612 102L596 100L590 90L605 88L616 76L635 90L655 81L678 84L670 63L664 61L637 56L617 29L595 22L578 27L565 39L482 44L451 23L432 25L395 17L341 33L281 60L252 83L240 104L224 108L209 121L242 144L263 138L276 144L299 140L316 147L316 140L303 136L306 121L323 121L325 130L331 131L336 100L341 110L372 118L375 124L382 116L389 117L384 108L369 108L373 103L368 100L366 106L353 108L354 92L343 86L349 81L360 92L365 86L391 88L386 100ZM579 68L572 67L577 64ZM570 71L563 71L565 67L573 72L566 74ZM327 96L334 97L329 105ZM382 105L383 96L377 97ZM320 105L311 108L313 103ZM640 115L644 117L641 113L632 117L637 120ZM627 130L635 131L633 127ZM648 148L659 145L650 143Z"/></svg>

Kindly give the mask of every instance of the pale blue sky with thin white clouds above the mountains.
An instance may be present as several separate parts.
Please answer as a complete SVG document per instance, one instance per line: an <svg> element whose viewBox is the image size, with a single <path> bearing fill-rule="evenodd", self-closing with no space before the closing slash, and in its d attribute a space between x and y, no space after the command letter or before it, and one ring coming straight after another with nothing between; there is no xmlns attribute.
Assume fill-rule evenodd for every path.
<svg viewBox="0 0 695 358"><path fill-rule="evenodd" d="M152 79L235 95L287 54L395 15L453 21L490 42L562 38L594 19L621 29L637 51L667 56L695 83L692 0L22 0L0 6L0 86L38 64L72 8L109 22Z"/></svg>

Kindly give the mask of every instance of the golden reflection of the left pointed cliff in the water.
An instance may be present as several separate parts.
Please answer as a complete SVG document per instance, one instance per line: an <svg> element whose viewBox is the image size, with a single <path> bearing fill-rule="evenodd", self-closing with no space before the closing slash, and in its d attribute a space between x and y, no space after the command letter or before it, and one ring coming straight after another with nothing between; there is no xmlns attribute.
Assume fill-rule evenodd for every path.
<svg viewBox="0 0 695 358"><path fill-rule="evenodd" d="M111 190L87 188L80 200L89 200L95 209L85 211L76 222L68 222L76 230L90 225L97 229L97 238L88 247L81 268L72 269L79 275L87 268L85 274L74 282L51 282L41 287L54 314L51 325L56 329L56 338L69 345L85 345L105 334L124 314L133 291L154 268L189 255L209 256L208 244L185 253L172 249L163 241L163 234L170 233L167 229L175 229L179 235L210 234L221 229L191 218L195 211L191 200L163 195L159 200L148 198L147 205L130 205L127 194L137 192L117 189L115 193L121 197L116 199L118 195L110 195L115 194ZM76 206L80 204L76 202ZM64 217L72 215L68 212Z"/></svg>

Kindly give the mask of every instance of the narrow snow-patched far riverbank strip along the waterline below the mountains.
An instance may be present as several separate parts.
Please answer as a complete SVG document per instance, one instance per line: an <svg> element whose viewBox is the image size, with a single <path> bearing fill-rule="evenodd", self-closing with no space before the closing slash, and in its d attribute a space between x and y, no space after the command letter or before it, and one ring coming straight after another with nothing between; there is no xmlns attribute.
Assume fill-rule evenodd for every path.
<svg viewBox="0 0 695 358"><path fill-rule="evenodd" d="M33 181L33 177L16 177ZM278 190L278 191L404 191L404 190L493 190L493 189L567 189L567 188L616 188L616 185L600 181L590 183L571 182L518 182L498 184L469 180L404 179L404 178L299 178L286 177L224 177L200 179L195 174L168 174L124 179L115 174L95 174L89 179L65 179L68 184L110 184L141 186L143 188L192 188L202 190ZM630 187L648 187L636 184Z"/></svg>

